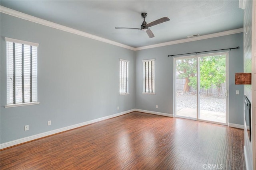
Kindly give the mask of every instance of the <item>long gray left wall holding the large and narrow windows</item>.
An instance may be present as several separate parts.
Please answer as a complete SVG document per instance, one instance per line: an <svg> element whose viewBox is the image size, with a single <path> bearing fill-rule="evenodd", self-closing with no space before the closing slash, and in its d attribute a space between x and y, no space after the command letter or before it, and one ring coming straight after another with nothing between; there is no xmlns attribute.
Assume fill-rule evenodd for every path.
<svg viewBox="0 0 256 170"><path fill-rule="evenodd" d="M134 51L2 13L0 33L1 143L135 108ZM39 43L39 105L4 108L4 37ZM120 58L130 61L130 94L124 96L119 95ZM47 125L48 120L52 125Z"/></svg>

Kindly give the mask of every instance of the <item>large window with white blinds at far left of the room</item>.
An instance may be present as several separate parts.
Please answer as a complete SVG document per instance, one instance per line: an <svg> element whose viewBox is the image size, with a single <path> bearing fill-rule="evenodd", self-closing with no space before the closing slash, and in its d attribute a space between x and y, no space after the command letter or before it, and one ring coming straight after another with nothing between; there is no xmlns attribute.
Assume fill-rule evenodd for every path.
<svg viewBox="0 0 256 170"><path fill-rule="evenodd" d="M37 43L6 37L7 106L37 102Z"/></svg>

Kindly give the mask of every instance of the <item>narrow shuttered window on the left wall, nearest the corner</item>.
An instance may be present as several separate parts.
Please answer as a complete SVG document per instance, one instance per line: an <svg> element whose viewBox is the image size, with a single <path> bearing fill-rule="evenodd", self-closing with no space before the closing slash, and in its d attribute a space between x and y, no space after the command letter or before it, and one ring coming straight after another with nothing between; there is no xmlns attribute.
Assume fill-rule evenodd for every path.
<svg viewBox="0 0 256 170"><path fill-rule="evenodd" d="M128 91L128 73L129 61L120 59L119 61L119 94L129 94Z"/></svg>

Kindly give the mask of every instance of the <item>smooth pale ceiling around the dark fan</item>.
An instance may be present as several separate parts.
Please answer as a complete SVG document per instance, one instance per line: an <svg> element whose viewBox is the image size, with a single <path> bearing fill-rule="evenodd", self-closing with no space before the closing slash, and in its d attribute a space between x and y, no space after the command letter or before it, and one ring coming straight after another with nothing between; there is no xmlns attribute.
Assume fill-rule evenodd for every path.
<svg viewBox="0 0 256 170"><path fill-rule="evenodd" d="M1 0L0 5L131 47L242 28L244 17L238 0ZM150 27L151 39L141 30L115 29L140 28L142 12L148 13L147 23L165 16L170 21Z"/></svg>

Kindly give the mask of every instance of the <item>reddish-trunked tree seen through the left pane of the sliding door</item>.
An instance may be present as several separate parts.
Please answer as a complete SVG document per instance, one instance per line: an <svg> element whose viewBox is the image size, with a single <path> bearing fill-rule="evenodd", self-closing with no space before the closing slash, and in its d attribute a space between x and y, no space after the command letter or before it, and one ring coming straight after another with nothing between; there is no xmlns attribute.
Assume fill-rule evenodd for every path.
<svg viewBox="0 0 256 170"><path fill-rule="evenodd" d="M196 74L196 58L176 60L176 70L178 77L185 79L183 91L189 92L190 80Z"/></svg>

